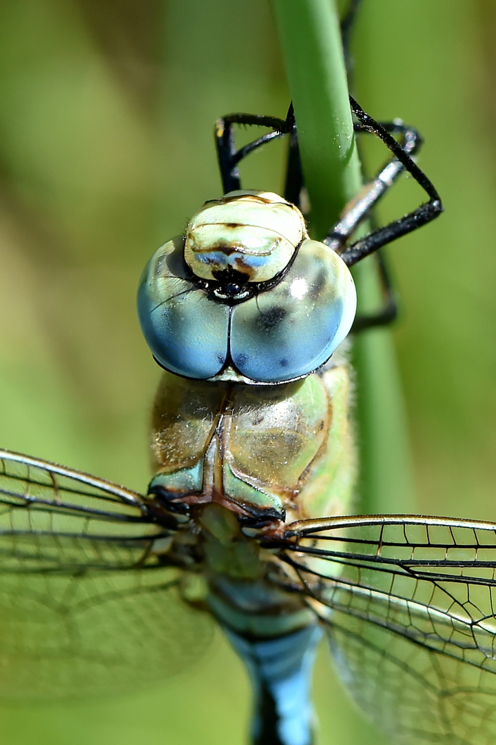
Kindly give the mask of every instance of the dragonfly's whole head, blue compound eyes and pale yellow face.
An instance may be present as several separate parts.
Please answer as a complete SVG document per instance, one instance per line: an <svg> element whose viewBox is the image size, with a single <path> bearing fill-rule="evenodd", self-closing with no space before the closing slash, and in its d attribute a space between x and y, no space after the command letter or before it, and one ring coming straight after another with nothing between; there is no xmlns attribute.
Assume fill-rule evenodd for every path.
<svg viewBox="0 0 496 745"><path fill-rule="evenodd" d="M329 247L306 238L303 216L277 194L232 192L224 200L214 206L207 203L190 222L188 235L196 235L199 226L202 229L196 235L193 259L190 239L189 263L189 239L177 236L146 265L138 290L146 342L162 367L186 378L263 384L309 375L329 359L352 326L356 294L350 271ZM255 218L258 231L252 235L253 226L247 223ZM231 248L222 242L228 220L228 232L237 236ZM214 226L218 230L215 251ZM274 241L276 233L286 241L283 254L281 241ZM246 237L250 235L251 242ZM265 243L260 235L265 235ZM300 244L295 246L297 241ZM271 246L276 247L272 254ZM240 281L238 298L222 294L218 281L193 272L198 262L206 273L205 267L219 267L218 254L225 256L226 264L237 261L238 267L239 256L244 256L247 276ZM251 284L253 276L260 280L260 272L271 281L265 286L262 281ZM280 279L275 282L277 274ZM239 271L237 276L241 275Z"/></svg>

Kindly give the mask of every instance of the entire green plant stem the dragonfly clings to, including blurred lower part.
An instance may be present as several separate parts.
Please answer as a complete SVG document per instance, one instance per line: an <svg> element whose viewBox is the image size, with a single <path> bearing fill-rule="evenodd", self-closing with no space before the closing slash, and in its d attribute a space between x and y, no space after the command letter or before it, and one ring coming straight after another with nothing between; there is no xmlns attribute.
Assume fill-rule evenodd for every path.
<svg viewBox="0 0 496 745"><path fill-rule="evenodd" d="M338 12L332 0L273 0L292 93L311 212L322 238L361 184L353 136ZM361 306L377 307L373 261L355 272ZM413 511L408 436L390 336L384 330L355 343L361 457L360 509Z"/></svg>

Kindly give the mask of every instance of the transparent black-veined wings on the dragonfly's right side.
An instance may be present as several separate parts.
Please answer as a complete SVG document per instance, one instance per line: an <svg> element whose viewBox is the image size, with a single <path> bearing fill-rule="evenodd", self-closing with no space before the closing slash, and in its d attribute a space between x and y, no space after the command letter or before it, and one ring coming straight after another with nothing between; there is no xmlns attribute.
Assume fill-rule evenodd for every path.
<svg viewBox="0 0 496 745"><path fill-rule="evenodd" d="M352 697L393 742L494 743L496 524L372 516L289 528L283 560Z"/></svg>

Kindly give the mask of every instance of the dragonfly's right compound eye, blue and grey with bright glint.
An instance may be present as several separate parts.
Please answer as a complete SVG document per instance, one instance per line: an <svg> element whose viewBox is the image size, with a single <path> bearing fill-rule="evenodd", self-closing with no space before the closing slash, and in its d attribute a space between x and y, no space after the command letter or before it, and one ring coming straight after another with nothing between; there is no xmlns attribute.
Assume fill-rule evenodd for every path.
<svg viewBox="0 0 496 745"><path fill-rule="evenodd" d="M356 291L344 261L303 241L281 282L233 308L230 350L242 375L264 383L321 367L350 332Z"/></svg>

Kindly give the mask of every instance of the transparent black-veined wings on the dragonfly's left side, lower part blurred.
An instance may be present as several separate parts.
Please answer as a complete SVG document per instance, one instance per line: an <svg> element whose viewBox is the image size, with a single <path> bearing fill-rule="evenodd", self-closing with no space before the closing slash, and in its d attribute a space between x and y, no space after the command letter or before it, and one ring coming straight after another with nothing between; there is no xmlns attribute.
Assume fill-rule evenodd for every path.
<svg viewBox="0 0 496 745"><path fill-rule="evenodd" d="M0 451L0 697L129 690L195 659L210 618L150 552L169 535L129 489Z"/></svg>

